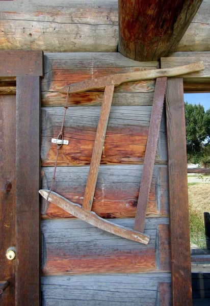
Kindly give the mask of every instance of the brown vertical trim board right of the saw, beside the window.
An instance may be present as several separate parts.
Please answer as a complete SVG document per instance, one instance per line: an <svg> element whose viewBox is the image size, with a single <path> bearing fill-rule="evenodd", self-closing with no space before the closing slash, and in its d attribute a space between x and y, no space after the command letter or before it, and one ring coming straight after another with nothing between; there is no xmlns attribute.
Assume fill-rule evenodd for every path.
<svg viewBox="0 0 210 306"><path fill-rule="evenodd" d="M170 244L173 306L192 305L185 108L182 78L167 82Z"/></svg>

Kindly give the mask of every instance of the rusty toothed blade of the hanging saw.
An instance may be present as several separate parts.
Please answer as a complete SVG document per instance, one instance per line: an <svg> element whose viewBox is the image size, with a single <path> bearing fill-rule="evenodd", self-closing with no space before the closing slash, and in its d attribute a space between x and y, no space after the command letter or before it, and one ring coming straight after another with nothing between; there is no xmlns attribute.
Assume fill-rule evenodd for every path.
<svg viewBox="0 0 210 306"><path fill-rule="evenodd" d="M142 179L137 203L137 212L134 223L134 230L142 233L144 231L147 203L149 199L152 173L154 168L154 160L156 155L156 149L158 147L158 137L163 113L166 84L166 77L156 79L151 118L149 124L149 133L147 138L146 152L142 171Z"/></svg>

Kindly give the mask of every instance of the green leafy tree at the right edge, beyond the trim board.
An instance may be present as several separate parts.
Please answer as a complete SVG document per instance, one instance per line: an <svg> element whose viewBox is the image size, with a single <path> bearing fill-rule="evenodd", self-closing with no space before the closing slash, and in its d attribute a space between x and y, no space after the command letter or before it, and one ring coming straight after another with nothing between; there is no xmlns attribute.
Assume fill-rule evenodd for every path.
<svg viewBox="0 0 210 306"><path fill-rule="evenodd" d="M205 112L202 105L185 102L185 118L188 162L206 166L210 161L210 109Z"/></svg>

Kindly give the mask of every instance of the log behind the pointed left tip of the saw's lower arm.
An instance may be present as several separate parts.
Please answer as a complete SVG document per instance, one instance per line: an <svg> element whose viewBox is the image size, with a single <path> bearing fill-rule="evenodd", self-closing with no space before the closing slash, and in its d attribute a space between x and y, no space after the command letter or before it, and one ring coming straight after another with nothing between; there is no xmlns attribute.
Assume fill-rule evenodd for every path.
<svg viewBox="0 0 210 306"><path fill-rule="evenodd" d="M142 165L101 165L92 211L102 218L134 218ZM58 167L54 191L73 203L83 204L89 167ZM42 168L42 189L49 189L52 167ZM168 215L167 167L155 165L147 216ZM69 218L70 214L42 198L42 218Z"/></svg>

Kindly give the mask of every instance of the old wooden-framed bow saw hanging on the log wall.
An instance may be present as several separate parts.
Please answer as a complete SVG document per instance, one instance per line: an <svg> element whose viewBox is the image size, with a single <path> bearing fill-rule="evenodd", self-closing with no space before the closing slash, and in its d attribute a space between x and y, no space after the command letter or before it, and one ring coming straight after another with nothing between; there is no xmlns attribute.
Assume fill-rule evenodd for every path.
<svg viewBox="0 0 210 306"><path fill-rule="evenodd" d="M86 221L87 223L90 223L98 228L101 228L101 230L107 231L109 233L115 234L117 236L126 239L147 244L149 242L150 237L149 235L143 233L143 231L144 231L144 224L146 218L147 203L150 192L150 185L152 180L154 160L156 155L156 148L158 145L158 137L161 125L162 112L163 112L167 77L176 77L178 75L196 72L203 69L204 69L203 62L196 62L189 65L179 66L174 68L110 74L104 77L89 79L83 82L70 84L62 88L60 90L60 93L66 93L67 98L66 98L66 105L64 107L65 111L64 111L61 131L57 139L52 139L52 142L57 144L57 158L54 168L54 175L52 177L52 185L50 190L41 189L39 190L39 193L45 199L59 206L60 208L62 208L69 214L73 215L74 217L77 217L83 221ZM150 79L156 79L156 84L154 90L154 98L151 110L151 118L150 118L149 132L146 144L142 179L141 179L139 198L137 204L137 212L136 212L134 230L132 230L131 228L120 226L108 220L100 218L93 211L91 211L91 208L95 193L100 159L103 150L104 138L107 131L107 124L112 104L114 88L124 82L142 81ZM52 191L52 188L56 178L55 173L56 173L59 149L63 144L68 144L68 141L64 140L63 137L63 125L64 125L66 109L68 108L67 106L68 96L71 93L82 92L93 89L101 89L101 88L105 88L105 90L103 94L100 117L98 121L98 127L93 146L87 184L85 188L83 206L81 206L79 204L67 200L63 196Z"/></svg>

